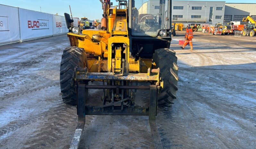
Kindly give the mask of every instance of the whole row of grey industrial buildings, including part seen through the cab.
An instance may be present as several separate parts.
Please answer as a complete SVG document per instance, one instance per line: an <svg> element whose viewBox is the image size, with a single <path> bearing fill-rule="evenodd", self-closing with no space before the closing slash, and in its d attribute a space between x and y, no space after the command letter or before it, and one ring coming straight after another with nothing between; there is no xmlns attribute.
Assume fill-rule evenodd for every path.
<svg viewBox="0 0 256 149"><path fill-rule="evenodd" d="M139 13L158 14L159 1L149 0L141 5ZM149 7L154 7L152 9ZM167 7L167 6L166 6ZM227 23L242 21L251 15L256 19L256 4L226 3L225 1L172 1L172 21L187 24ZM166 8L167 10L167 8Z"/></svg>

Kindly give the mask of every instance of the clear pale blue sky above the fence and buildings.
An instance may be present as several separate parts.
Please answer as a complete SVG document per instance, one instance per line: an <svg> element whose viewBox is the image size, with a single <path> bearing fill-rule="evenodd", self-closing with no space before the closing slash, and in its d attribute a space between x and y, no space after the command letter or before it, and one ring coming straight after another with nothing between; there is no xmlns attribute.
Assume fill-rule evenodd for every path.
<svg viewBox="0 0 256 149"><path fill-rule="evenodd" d="M111 0L116 3L115 0ZM146 0L144 0L146 1ZM204 1L204 0L196 0ZM225 0L210 0L225 1ZM255 0L226 0L226 3L256 3ZM83 4L81 4L83 3ZM87 17L90 20L101 19L102 9L99 0L0 0L0 4L20 7L24 9L41 11L51 14L58 13L64 15L64 12L70 13L69 5L71 5L73 17ZM0 10L1 11L1 10Z"/></svg>

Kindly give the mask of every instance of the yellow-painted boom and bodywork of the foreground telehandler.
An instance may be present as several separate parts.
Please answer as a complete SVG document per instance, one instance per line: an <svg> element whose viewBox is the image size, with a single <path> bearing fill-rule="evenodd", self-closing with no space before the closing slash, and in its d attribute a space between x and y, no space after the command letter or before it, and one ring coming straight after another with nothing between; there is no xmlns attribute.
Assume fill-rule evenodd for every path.
<svg viewBox="0 0 256 149"><path fill-rule="evenodd" d="M146 7L145 7L146 8ZM111 12L111 14L110 14ZM143 12L143 10L141 10ZM87 52L87 65L89 72L121 72L123 67L122 59L125 59L126 72L150 74L152 59L137 59L130 57L130 39L127 26L127 10L117 9L116 6L108 10L108 28L106 31L85 29L82 35L68 33L71 46L83 48ZM100 41L93 41L93 35L100 35ZM119 44L121 48L112 47L112 44ZM123 48L124 46L124 48ZM113 48L113 49L112 49ZM125 55L125 57L124 57ZM113 56L113 57L112 57ZM123 57L122 57L123 56ZM119 69L119 70L114 70ZM138 80L147 80L145 76L132 76ZM159 82L159 74L157 76ZM117 82L116 83L120 83Z"/></svg>

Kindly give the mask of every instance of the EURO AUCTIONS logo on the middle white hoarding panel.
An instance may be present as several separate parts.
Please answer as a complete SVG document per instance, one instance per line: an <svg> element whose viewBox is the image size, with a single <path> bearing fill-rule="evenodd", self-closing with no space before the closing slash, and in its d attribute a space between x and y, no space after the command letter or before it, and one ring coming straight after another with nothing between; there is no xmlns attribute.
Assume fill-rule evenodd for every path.
<svg viewBox="0 0 256 149"><path fill-rule="evenodd" d="M49 29L49 20L28 20L28 28L31 30Z"/></svg>

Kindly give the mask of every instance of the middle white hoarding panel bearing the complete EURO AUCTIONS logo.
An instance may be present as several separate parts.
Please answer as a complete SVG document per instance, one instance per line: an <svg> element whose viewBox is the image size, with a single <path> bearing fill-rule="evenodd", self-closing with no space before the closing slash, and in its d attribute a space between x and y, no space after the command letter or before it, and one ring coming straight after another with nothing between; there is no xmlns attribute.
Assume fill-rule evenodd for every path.
<svg viewBox="0 0 256 149"><path fill-rule="evenodd" d="M52 14L19 8L21 41L53 35Z"/></svg>

